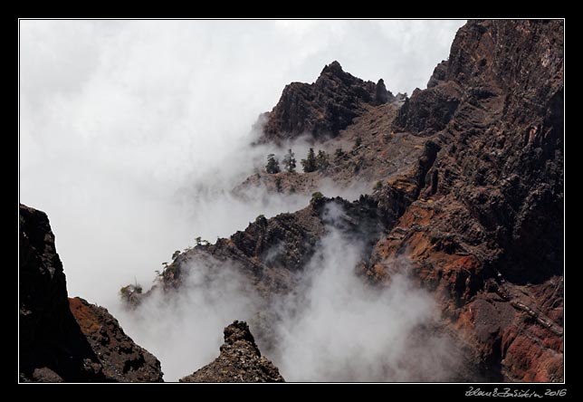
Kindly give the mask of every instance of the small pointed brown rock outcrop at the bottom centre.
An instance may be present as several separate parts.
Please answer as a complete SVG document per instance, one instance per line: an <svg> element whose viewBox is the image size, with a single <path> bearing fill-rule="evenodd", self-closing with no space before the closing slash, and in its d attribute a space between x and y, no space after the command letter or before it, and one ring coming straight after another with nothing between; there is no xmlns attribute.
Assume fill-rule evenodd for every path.
<svg viewBox="0 0 583 402"><path fill-rule="evenodd" d="M261 355L246 322L234 321L224 333L219 357L180 382L283 382L280 371Z"/></svg>

